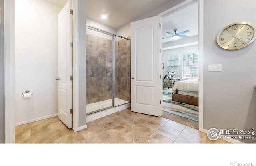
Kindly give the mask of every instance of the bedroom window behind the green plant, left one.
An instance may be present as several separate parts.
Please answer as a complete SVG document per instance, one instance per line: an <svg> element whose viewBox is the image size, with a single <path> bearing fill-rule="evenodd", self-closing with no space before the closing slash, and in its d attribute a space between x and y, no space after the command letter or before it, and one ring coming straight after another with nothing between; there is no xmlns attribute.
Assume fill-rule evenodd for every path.
<svg viewBox="0 0 256 166"><path fill-rule="evenodd" d="M167 55L167 71L174 72L177 78L180 78L180 55Z"/></svg>

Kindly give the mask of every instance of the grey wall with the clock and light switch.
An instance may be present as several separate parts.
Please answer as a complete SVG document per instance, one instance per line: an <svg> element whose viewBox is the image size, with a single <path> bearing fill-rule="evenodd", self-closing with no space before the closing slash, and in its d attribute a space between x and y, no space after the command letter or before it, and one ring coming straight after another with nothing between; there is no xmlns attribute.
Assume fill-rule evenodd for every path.
<svg viewBox="0 0 256 166"><path fill-rule="evenodd" d="M256 25L255 0L203 2L204 129L255 128L256 41L239 50L225 50L216 43L218 32L228 24L246 21ZM208 72L208 64L222 64L222 72Z"/></svg>

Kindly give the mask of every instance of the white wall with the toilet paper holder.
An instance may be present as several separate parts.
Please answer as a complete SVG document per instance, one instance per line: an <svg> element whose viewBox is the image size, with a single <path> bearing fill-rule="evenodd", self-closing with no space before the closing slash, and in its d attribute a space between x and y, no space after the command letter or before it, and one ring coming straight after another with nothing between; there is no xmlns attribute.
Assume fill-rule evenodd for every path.
<svg viewBox="0 0 256 166"><path fill-rule="evenodd" d="M15 122L58 113L58 13L43 0L15 2ZM30 90L31 98L22 92Z"/></svg>

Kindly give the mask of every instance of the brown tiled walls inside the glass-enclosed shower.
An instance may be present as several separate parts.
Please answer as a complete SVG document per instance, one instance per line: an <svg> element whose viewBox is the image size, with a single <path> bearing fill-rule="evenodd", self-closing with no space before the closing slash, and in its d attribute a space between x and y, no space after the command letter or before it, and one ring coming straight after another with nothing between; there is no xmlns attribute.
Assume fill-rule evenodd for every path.
<svg viewBox="0 0 256 166"><path fill-rule="evenodd" d="M90 104L112 99L112 40L91 34L86 37L86 102ZM130 102L130 40L122 39L115 45L115 97Z"/></svg>

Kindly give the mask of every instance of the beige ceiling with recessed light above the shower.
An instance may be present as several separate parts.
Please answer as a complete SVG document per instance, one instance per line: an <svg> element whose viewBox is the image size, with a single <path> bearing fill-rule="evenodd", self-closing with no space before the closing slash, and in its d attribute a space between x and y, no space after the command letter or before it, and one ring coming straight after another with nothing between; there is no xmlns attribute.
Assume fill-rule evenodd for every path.
<svg viewBox="0 0 256 166"><path fill-rule="evenodd" d="M87 18L118 29L166 0L87 0ZM106 20L101 15L106 14Z"/></svg>

